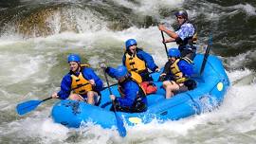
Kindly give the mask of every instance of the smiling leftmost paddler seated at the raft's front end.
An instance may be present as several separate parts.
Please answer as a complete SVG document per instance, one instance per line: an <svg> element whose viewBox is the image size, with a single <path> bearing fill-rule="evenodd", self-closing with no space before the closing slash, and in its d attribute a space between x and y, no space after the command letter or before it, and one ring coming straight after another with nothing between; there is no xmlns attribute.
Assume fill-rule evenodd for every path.
<svg viewBox="0 0 256 144"><path fill-rule="evenodd" d="M70 71L64 76L61 83L61 90L53 93L55 99L73 99L82 100L89 104L98 105L101 99L102 81L88 67L88 64L82 64L78 54L70 54L67 57Z"/></svg>

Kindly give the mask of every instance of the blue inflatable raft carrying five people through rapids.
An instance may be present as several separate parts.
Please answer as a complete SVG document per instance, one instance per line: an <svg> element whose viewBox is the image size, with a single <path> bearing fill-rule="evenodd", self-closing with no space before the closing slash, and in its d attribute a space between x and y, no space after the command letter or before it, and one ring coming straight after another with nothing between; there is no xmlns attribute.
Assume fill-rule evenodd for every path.
<svg viewBox="0 0 256 144"><path fill-rule="evenodd" d="M152 74L157 92L148 95L148 110L143 113L123 113L117 114L124 123L133 126L138 123L148 123L153 119L160 122L166 120L177 120L183 117L190 117L195 114L208 112L221 104L229 87L229 78L221 61L210 55L201 76L199 71L204 55L197 54L194 59L194 70L198 73L193 79L197 82L197 87L191 91L175 95L172 99L165 99L165 91L161 88L162 82L157 81L159 73ZM117 85L111 86L115 96L119 96ZM93 106L82 101L60 100L52 109L52 118L55 122L67 127L80 127L83 122L94 122L102 128L116 126L115 114L109 111L111 101L109 91L101 91L100 106Z"/></svg>

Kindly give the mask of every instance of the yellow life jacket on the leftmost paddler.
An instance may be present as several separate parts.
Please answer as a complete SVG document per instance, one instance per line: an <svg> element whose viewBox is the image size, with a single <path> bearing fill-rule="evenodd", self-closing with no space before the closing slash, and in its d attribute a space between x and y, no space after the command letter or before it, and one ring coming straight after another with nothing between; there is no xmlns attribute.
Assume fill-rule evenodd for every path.
<svg viewBox="0 0 256 144"><path fill-rule="evenodd" d="M88 67L88 64L81 64L81 68L83 69L84 67ZM91 91L93 89L90 81L86 80L82 76L82 72L79 73L79 76L71 74L71 79L71 90L75 94L86 94L88 91Z"/></svg>

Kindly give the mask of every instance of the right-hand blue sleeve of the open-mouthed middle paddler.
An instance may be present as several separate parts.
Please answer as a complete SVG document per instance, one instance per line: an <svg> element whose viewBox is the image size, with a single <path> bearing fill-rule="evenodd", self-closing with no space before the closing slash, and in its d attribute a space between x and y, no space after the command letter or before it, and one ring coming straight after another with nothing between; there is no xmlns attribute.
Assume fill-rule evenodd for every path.
<svg viewBox="0 0 256 144"><path fill-rule="evenodd" d="M143 61L145 61L147 67L152 70L153 72L155 72L155 69L158 68L158 66L155 64L153 57L146 53L143 50L138 50L137 51L137 57Z"/></svg>

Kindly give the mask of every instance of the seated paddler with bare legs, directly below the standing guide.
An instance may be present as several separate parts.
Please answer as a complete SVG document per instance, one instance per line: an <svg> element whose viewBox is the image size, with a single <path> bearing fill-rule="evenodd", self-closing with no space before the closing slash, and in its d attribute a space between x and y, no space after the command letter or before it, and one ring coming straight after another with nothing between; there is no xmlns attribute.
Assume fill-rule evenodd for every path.
<svg viewBox="0 0 256 144"><path fill-rule="evenodd" d="M163 81L166 99L172 98L176 93L192 90L196 86L195 81L191 79L193 68L189 58L180 58L180 51L177 48L170 48L168 59L159 79Z"/></svg>

